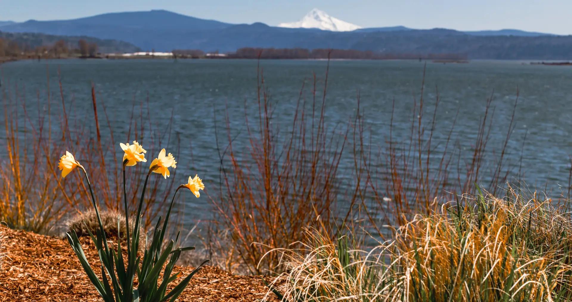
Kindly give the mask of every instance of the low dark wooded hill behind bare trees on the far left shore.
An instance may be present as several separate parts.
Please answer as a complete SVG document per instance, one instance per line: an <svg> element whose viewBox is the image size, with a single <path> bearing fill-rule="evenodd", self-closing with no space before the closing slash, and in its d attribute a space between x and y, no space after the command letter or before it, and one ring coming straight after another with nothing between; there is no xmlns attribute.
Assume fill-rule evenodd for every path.
<svg viewBox="0 0 572 302"><path fill-rule="evenodd" d="M65 41L70 48L77 48L80 39L84 39L90 43L97 43L98 50L101 53L133 53L140 50L139 47L132 43L86 36L70 37L39 33L6 33L5 31L0 31L0 38L15 41L22 49L25 49L26 47L34 49L38 46L51 46L59 40Z"/></svg>

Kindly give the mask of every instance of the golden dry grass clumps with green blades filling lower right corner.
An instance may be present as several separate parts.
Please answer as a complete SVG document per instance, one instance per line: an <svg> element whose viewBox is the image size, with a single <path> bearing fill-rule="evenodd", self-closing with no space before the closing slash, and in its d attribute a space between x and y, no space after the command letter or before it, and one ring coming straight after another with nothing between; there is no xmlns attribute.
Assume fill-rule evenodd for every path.
<svg viewBox="0 0 572 302"><path fill-rule="evenodd" d="M572 222L566 206L526 198L464 197L418 214L366 251L316 233L280 249L284 301L564 301L572 298Z"/></svg>

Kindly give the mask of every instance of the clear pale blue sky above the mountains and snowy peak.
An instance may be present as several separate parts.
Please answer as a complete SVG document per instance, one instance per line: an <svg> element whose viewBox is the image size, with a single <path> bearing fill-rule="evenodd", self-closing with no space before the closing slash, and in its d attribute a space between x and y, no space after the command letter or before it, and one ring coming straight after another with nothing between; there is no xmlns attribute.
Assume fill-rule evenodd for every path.
<svg viewBox="0 0 572 302"><path fill-rule="evenodd" d="M572 0L0 0L0 21L71 19L165 9L229 23L298 21L314 7L363 27L522 29L572 34Z"/></svg>

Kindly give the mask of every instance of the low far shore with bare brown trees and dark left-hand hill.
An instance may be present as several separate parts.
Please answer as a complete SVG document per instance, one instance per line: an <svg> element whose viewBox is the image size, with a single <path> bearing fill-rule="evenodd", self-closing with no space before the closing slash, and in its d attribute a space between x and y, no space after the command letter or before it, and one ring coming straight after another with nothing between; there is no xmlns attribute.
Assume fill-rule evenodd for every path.
<svg viewBox="0 0 572 302"><path fill-rule="evenodd" d="M542 56L541 56L542 57ZM531 65L569 66L570 61L533 61L541 58L530 57ZM241 47L235 51L220 52L201 49L173 49L170 52L157 52L154 49L142 51L132 43L113 39L49 35L41 33L9 33L0 31L0 63L19 59L59 59L59 58L165 58L165 59L415 59L436 63L467 63L470 55L466 51L427 52L427 51L371 51L355 49L305 49L305 48L263 48ZM543 58L546 59L546 58Z"/></svg>

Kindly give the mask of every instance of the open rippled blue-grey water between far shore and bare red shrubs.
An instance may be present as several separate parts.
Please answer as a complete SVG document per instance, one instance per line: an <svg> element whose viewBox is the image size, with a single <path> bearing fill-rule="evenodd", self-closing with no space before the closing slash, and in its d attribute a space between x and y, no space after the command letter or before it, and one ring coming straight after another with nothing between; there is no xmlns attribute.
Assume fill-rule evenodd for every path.
<svg viewBox="0 0 572 302"><path fill-rule="evenodd" d="M303 97L312 99L314 77L317 98L321 98L326 66L325 61L260 62L265 85L275 104L273 122L287 129L303 84ZM132 114L133 104L147 106L148 102L149 114L157 127L166 127L173 115L175 137L181 141L181 151L176 154L177 183L184 182L185 175L198 173L208 188L216 187L219 156L215 116L219 127L224 128L223 117L225 108L228 109L235 142L244 147L248 145L244 113L257 112L258 62L255 60L70 59L11 62L0 68L3 89L14 93L17 85L19 91L25 92L25 96L20 97L25 97L31 108L37 106L37 96L42 106L47 103L47 75L51 102L61 104L58 88L58 77L61 77L66 101L74 100L70 114L89 125L93 122L90 95L93 83L98 101L106 106L116 140L126 134L125 121ZM328 125L347 123L355 116L359 95L372 144L383 145L388 140L395 102L394 136L397 141L403 140L415 118L412 109L415 102L419 102L423 70L424 63L416 61L330 62L325 108ZM486 100L492 97L494 120L489 146L493 148L488 156L498 157L492 150L499 152L502 147L518 92L516 124L506 154L509 164L521 165L522 154L524 178L531 187L543 189L547 184L549 188L559 189L560 185L567 185L572 154L572 96L569 93L572 67L528 65L520 61L428 62L424 80L428 113L435 104L437 92L440 96L434 137L436 150L442 148L457 111L452 133L455 148L470 150ZM93 130L93 126L90 128ZM2 131L0 135L5 133ZM342 166L349 168L351 162L351 158L344 158ZM209 192L211 196L215 193L214 188ZM189 194L185 203L189 221L204 218L205 211L210 210L208 198L197 199Z"/></svg>

